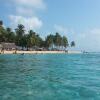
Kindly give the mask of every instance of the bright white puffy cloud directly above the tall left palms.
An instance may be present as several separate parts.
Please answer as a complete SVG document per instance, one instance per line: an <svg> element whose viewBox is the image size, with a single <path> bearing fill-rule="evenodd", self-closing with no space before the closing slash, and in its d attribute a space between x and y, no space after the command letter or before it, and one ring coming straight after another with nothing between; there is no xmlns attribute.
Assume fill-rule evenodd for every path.
<svg viewBox="0 0 100 100"><path fill-rule="evenodd" d="M14 28L17 27L18 24L23 24L26 30L30 30L30 29L36 30L36 29L41 28L43 25L42 21L38 19L37 17L26 18L22 16L10 15L9 18L11 21L11 25Z"/></svg>

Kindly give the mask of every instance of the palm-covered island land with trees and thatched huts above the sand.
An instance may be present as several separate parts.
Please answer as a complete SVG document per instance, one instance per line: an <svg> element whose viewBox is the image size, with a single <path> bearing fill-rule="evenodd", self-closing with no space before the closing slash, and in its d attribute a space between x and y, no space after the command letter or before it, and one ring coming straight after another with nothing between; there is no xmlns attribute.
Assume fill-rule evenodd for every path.
<svg viewBox="0 0 100 100"><path fill-rule="evenodd" d="M68 42L68 37L61 36L58 32L49 34L45 39L41 38L38 33L33 30L25 30L24 25L18 24L13 31L12 28L3 26L0 21L0 50L4 51L56 51L67 52L68 46L74 47L75 42ZM36 52L35 52L36 53Z"/></svg>

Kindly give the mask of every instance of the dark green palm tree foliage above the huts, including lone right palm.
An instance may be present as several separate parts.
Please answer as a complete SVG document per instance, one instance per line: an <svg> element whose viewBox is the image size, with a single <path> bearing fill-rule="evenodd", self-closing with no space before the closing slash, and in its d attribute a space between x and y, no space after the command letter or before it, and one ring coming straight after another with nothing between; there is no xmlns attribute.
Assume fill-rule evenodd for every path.
<svg viewBox="0 0 100 100"><path fill-rule="evenodd" d="M54 35L47 35L45 40L43 40L39 34L33 30L25 33L25 27L22 24L19 24L15 29L15 32L11 28L4 28L3 22L0 21L0 43L1 42L10 42L15 43L17 46L21 46L22 49L25 47L27 49L32 47L52 47L55 48L66 48L68 47L68 39L66 36L61 36L59 33ZM71 47L75 46L75 42L71 42Z"/></svg>

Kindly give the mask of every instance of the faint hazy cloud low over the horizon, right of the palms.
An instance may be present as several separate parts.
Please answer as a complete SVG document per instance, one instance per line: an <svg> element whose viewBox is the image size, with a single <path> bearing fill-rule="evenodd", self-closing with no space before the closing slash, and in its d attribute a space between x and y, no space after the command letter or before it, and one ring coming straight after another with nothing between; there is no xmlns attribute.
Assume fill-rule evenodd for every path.
<svg viewBox="0 0 100 100"><path fill-rule="evenodd" d="M67 35L69 43L75 41L76 50L100 51L100 28L89 29L84 33L77 33L62 25L54 25L54 29L62 35Z"/></svg>

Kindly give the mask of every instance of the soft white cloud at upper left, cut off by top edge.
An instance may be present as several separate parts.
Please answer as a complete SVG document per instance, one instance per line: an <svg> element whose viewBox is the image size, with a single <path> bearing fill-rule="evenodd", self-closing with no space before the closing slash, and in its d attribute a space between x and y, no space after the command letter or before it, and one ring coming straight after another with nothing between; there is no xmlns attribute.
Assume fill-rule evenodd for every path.
<svg viewBox="0 0 100 100"><path fill-rule="evenodd" d="M14 5L14 9L17 15L32 16L37 10L45 9L46 4L44 0L10 0L11 6Z"/></svg>

